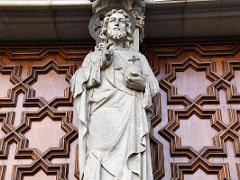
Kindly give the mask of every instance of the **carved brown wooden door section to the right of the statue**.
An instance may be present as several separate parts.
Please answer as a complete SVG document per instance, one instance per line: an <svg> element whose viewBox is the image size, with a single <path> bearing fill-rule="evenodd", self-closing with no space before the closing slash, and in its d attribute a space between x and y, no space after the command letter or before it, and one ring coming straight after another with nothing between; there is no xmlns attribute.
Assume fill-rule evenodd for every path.
<svg viewBox="0 0 240 180"><path fill-rule="evenodd" d="M240 44L147 45L161 86L161 122L169 180L240 179Z"/></svg>

